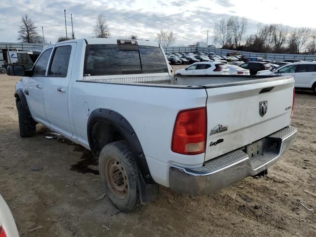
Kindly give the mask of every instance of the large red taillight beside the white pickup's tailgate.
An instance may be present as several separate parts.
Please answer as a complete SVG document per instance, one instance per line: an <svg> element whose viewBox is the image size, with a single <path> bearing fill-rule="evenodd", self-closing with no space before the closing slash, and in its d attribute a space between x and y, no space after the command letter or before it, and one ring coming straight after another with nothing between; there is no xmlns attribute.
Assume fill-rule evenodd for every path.
<svg viewBox="0 0 316 237"><path fill-rule="evenodd" d="M205 152L206 108L180 111L173 130L171 150L186 155Z"/></svg>

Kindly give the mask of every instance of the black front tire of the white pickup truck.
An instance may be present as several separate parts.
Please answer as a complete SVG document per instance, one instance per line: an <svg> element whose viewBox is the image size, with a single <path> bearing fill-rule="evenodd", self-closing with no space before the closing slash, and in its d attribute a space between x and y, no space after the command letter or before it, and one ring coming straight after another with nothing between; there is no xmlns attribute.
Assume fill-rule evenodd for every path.
<svg viewBox="0 0 316 237"><path fill-rule="evenodd" d="M29 120L24 111L22 102L16 100L16 108L18 110L19 127L21 137L33 137L36 135L36 124Z"/></svg>

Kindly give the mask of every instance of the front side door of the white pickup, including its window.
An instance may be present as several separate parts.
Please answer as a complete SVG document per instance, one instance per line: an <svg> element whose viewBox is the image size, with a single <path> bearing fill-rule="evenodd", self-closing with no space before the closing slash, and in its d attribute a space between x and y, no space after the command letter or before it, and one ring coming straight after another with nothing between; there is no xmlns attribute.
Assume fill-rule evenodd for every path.
<svg viewBox="0 0 316 237"><path fill-rule="evenodd" d="M46 125L48 125L48 121L43 104L43 88L51 52L52 48L46 49L36 61L33 67L32 77L24 77L22 80L24 85L23 92L27 99L32 117Z"/></svg>

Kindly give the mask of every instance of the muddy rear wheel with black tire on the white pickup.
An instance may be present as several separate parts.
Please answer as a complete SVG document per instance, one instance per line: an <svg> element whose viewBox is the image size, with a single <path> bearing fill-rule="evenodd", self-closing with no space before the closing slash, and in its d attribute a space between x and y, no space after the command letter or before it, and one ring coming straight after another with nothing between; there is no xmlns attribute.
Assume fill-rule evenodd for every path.
<svg viewBox="0 0 316 237"><path fill-rule="evenodd" d="M112 188L110 187L111 182L108 181L111 179L109 176L113 179L118 177L116 174L113 174L112 176L111 172L107 172L109 170L109 165L111 165L109 162L112 163L113 159L118 160L119 165L121 165L123 170L122 172L127 176L123 177L122 181L126 181L126 184L128 185L125 197L118 198L117 196L120 194L115 192L116 190L114 187L117 186L116 181L115 184L112 185ZM132 153L125 141L112 142L104 146L99 157L99 171L108 197L120 211L130 212L140 205L138 171ZM119 173L120 171L121 170L117 170L114 173ZM122 175L122 172L118 175ZM125 185L125 183L122 185Z"/></svg>

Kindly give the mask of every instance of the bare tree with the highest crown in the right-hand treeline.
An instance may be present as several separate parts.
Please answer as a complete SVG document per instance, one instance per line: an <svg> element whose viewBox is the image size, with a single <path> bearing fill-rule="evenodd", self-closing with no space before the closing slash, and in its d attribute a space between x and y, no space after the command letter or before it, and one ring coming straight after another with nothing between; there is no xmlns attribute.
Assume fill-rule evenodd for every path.
<svg viewBox="0 0 316 237"><path fill-rule="evenodd" d="M247 18L231 16L227 21L227 27L230 28L233 33L235 47L240 46L241 40L244 38L248 27Z"/></svg>

